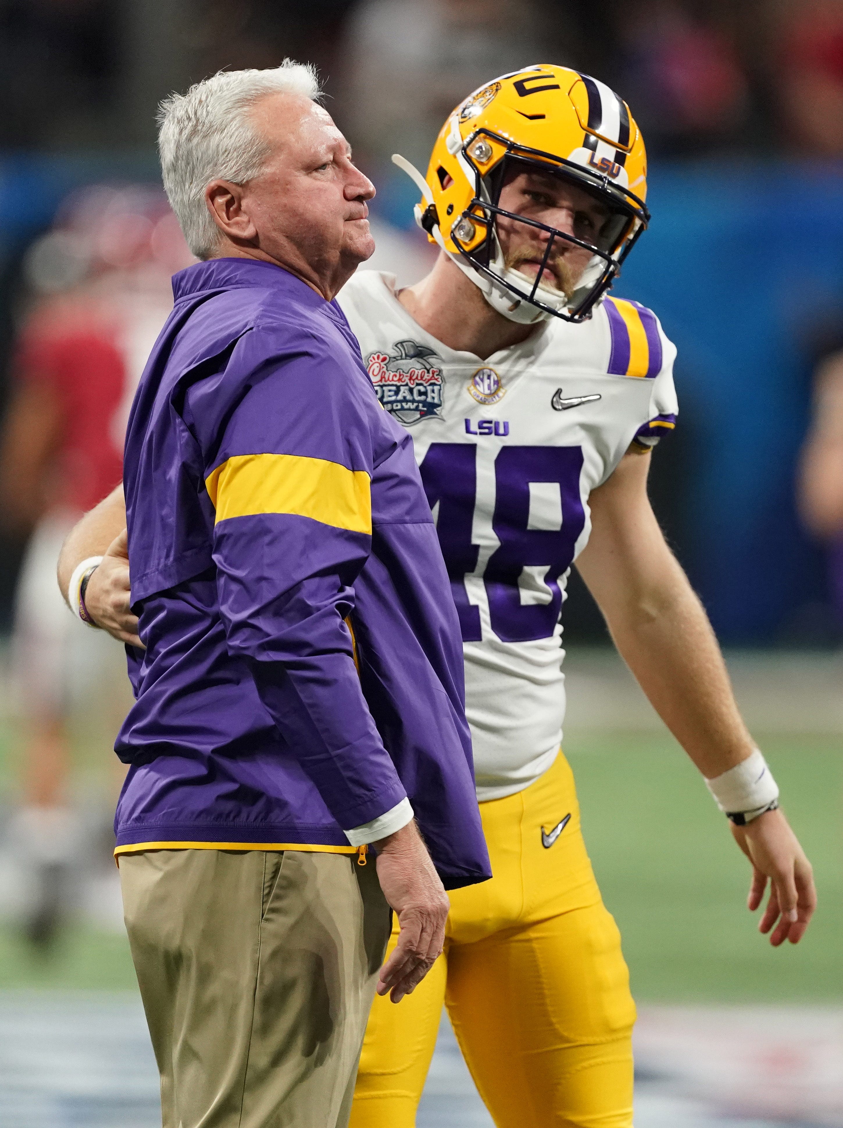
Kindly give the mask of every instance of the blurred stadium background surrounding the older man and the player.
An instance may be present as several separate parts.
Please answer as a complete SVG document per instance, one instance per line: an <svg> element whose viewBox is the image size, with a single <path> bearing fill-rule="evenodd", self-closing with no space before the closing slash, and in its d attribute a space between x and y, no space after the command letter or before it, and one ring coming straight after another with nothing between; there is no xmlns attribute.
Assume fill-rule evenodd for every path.
<svg viewBox="0 0 843 1128"><path fill-rule="evenodd" d="M565 750L640 1002L636 1122L843 1125L843 0L0 0L0 1123L156 1123L109 856L124 661L53 572L120 479L190 262L157 103L288 55L377 185L369 265L399 282L431 258L389 157L425 168L472 89L564 63L638 118L653 220L615 292L679 350L653 503L820 907L798 949L755 934L743 860L574 579ZM447 1028L419 1122L491 1123Z"/></svg>

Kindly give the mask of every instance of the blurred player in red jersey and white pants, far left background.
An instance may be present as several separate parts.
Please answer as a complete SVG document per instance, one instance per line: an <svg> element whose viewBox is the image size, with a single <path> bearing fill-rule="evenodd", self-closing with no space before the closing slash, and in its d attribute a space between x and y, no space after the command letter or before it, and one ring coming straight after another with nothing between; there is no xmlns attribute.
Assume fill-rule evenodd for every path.
<svg viewBox="0 0 843 1128"><path fill-rule="evenodd" d="M190 261L163 193L94 187L70 197L24 262L32 298L0 434L0 520L28 538L11 647L23 779L8 845L25 933L41 946L80 878L69 722L78 715L81 740L105 750L131 700L115 642L56 594L55 559L68 529L121 481L134 388L172 306L169 276Z"/></svg>

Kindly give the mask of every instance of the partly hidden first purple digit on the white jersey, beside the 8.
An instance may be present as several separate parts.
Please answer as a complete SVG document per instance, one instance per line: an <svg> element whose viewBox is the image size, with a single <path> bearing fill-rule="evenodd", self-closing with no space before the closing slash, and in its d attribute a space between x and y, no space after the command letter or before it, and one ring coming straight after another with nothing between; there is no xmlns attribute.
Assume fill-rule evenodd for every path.
<svg viewBox="0 0 843 1128"><path fill-rule="evenodd" d="M467 442L433 442L420 466L428 504L439 502L436 528L457 605L463 642L480 642L480 609L468 602L465 575L477 566L480 548L472 544L477 448Z"/></svg>

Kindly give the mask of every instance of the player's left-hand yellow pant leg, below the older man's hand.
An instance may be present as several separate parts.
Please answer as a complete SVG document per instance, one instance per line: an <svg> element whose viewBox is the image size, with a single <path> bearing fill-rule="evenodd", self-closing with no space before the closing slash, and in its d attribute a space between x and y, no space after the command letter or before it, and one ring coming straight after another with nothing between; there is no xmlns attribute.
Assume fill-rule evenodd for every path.
<svg viewBox="0 0 843 1128"><path fill-rule="evenodd" d="M398 938L397 922L387 958ZM401 1003L375 996L349 1128L413 1128L445 1003L446 954Z"/></svg>

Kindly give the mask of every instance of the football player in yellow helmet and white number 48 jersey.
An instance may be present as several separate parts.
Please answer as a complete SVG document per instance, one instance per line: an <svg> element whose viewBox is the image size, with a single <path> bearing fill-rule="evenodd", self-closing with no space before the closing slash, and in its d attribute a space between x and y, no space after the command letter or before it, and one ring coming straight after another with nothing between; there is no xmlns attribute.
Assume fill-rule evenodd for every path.
<svg viewBox="0 0 843 1128"><path fill-rule="evenodd" d="M753 869L752 909L770 882L761 931L796 943L816 900L647 496L651 450L676 421L675 350L650 310L608 297L649 220L644 146L606 86L538 65L462 103L425 178L396 162L420 187L439 258L404 290L360 272L340 303L384 409L412 430L436 517L494 876L450 895L445 951L412 997L376 999L351 1123L414 1123L445 1004L497 1125L629 1128L634 1004L560 750L560 611L574 561L729 816ZM96 513L100 547L79 529L62 575L120 528ZM131 640L121 553L91 575L87 610Z"/></svg>

